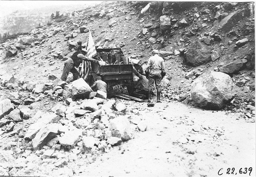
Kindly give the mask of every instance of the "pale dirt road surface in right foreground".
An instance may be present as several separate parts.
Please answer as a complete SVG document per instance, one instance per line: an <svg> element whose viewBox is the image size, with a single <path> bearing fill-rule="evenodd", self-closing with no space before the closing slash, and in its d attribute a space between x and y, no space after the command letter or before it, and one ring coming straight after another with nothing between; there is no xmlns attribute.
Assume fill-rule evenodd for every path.
<svg viewBox="0 0 256 177"><path fill-rule="evenodd" d="M255 176L255 124L178 102L128 103L147 131L80 167L79 176ZM143 110L144 111L140 111ZM188 141L189 140L189 141ZM223 169L222 169L223 168ZM231 168L230 175L227 169ZM240 174L239 170L247 174Z"/></svg>

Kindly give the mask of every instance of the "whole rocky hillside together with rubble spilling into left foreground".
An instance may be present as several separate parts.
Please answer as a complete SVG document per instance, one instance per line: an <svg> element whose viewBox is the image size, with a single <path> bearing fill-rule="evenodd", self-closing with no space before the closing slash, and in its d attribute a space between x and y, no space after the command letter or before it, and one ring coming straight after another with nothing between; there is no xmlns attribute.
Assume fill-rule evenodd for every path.
<svg viewBox="0 0 256 177"><path fill-rule="evenodd" d="M166 102L196 105L191 84L197 77L210 71L228 74L235 98L223 109L255 122L253 3L104 2L0 44L1 149L11 150L0 151L0 160L7 164L1 174L35 175L33 159L60 168L85 154L91 163L132 138L124 127L147 129L139 118L144 108L129 110L120 100L96 98L84 81L68 84L59 79L64 61L77 41L85 45L89 29L96 46L121 47L126 56L144 64L158 49L167 72L161 93ZM77 90L83 90L83 99ZM215 138L223 135L222 129L215 132ZM18 166L23 157L31 168L22 164L25 172Z"/></svg>

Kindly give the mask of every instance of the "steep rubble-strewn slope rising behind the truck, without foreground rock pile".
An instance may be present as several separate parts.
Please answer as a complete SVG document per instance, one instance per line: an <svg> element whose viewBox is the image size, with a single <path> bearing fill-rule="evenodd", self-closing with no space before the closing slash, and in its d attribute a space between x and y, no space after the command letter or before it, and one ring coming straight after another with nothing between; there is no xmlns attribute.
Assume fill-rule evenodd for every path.
<svg viewBox="0 0 256 177"><path fill-rule="evenodd" d="M203 72L213 69L218 70L218 66L224 66L233 61L234 58L246 58L247 66L232 74L234 81L241 79L241 77L250 76L250 72L254 71L253 11L250 12L249 16L247 15L247 17L239 20L236 25L233 24L232 29L227 32L219 30L219 22L222 18L237 9L245 8L250 11L252 9L250 3L182 2L179 4L154 2L151 3L148 11L141 14L141 9L146 5L146 2L104 2L93 8L77 11L75 17L65 23L53 22L51 26L32 30L28 36L31 36L37 42L37 46L33 44L25 46L26 49L18 51L18 57L4 56L5 50L16 45L19 39L5 42L2 44L2 49L4 50L1 50L2 67L14 68L14 70L10 73L10 70L3 69L1 74L3 75L5 72L10 75L19 73L18 77L24 77L27 74L26 77L31 79L47 77L47 74L57 74L60 76L63 62L57 59L58 55L63 51L69 53L67 57L71 55L72 50L70 50L71 48L67 45L66 40L72 37L72 33L76 33L76 37L69 39L70 41L86 41L87 33L80 33L82 26L90 28L95 44L98 46L121 46L125 55L141 59L145 63L148 57L150 57L152 49L156 48L160 51L167 51L168 53L163 53L162 56L165 59L167 68L166 78L171 79L171 87L165 91L168 92L169 90L172 92L178 88L179 90L174 91L178 92L175 95L189 95L188 89L193 80L191 78L185 79L185 77L192 70L197 71L199 69ZM101 12L102 14L100 14ZM171 18L172 24L168 30L160 28L159 19L163 15ZM180 22L182 19L184 21ZM143 32L143 29L146 32ZM213 34L217 34L221 40L210 40L210 35ZM190 48L191 42L193 43L194 41L199 41L206 45L204 44L206 38L210 40L210 45L208 46L211 50L217 51L219 58L216 61L210 61L197 67L187 66L186 61L184 61L184 51L186 52ZM237 48L235 42L245 38L249 39L249 42L243 47ZM25 55L27 55L26 58L24 57ZM9 62L10 60L11 62ZM25 65L26 67L24 67ZM15 66L16 68L20 66L20 68L15 70ZM28 74L31 73L28 71L39 74ZM197 74L195 77L199 75ZM192 74L189 77L193 76ZM246 86L252 87L252 85L254 85L254 78L246 83ZM243 91L241 92L240 88L238 92L238 97L243 96L245 100L249 99L249 102L254 102L254 100L251 100L253 96L250 96L252 92L247 94Z"/></svg>

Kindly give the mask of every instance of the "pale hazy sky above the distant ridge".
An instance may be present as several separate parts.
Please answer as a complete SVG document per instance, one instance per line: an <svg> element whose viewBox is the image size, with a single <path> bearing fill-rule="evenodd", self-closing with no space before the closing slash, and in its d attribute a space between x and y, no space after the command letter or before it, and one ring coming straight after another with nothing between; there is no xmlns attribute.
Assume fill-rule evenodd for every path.
<svg viewBox="0 0 256 177"><path fill-rule="evenodd" d="M0 18L4 17L10 13L13 13L17 10L29 10L29 9L37 9L41 7L47 7L52 5L69 5L69 4L81 4L81 7L85 6L85 4L95 4L95 2L102 2L102 1L61 1L61 0L0 0Z"/></svg>

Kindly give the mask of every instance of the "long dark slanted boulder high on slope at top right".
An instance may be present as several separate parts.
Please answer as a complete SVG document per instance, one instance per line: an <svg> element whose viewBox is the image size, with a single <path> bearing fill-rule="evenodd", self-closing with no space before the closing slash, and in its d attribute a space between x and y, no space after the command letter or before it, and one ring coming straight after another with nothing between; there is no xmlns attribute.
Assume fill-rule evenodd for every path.
<svg viewBox="0 0 256 177"><path fill-rule="evenodd" d="M219 28L220 30L228 32L237 24L237 22L249 16L250 11L248 11L247 9L238 9L237 11L231 13L223 20L221 20L221 22L219 23Z"/></svg>

